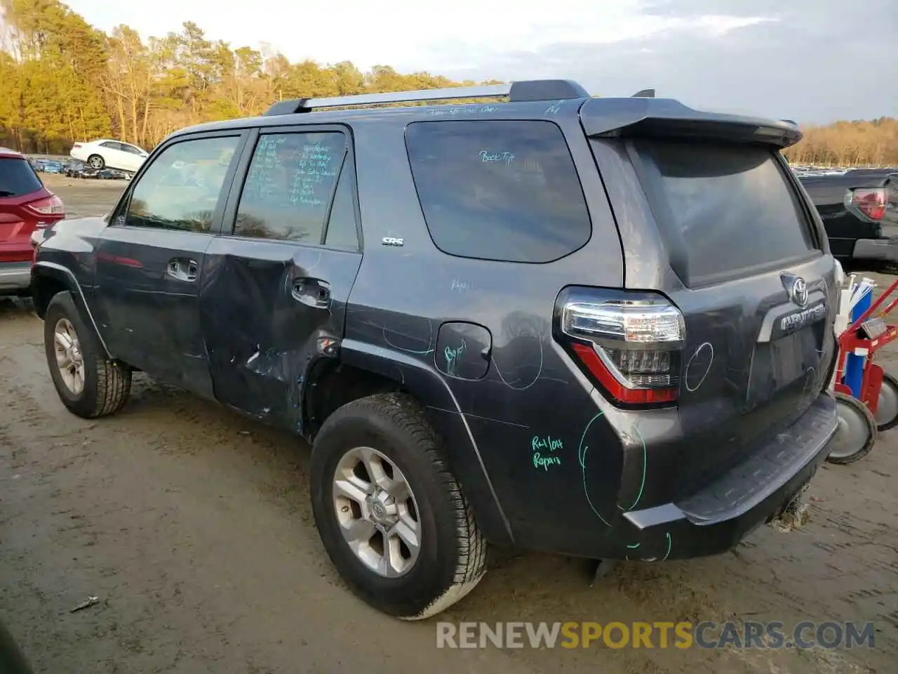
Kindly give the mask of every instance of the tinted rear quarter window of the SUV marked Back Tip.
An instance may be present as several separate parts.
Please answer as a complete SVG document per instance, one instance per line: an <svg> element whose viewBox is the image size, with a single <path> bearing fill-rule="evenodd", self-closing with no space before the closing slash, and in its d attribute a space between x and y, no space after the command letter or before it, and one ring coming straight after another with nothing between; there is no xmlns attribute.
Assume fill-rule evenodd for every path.
<svg viewBox="0 0 898 674"><path fill-rule="evenodd" d="M406 146L427 228L444 253L552 262L589 240L583 189L555 124L416 122Z"/></svg>

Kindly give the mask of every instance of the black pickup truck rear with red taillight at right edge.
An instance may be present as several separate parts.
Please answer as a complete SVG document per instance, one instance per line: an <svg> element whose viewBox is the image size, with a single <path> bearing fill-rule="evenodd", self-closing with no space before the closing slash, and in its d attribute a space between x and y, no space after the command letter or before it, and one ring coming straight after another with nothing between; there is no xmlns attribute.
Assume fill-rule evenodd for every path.
<svg viewBox="0 0 898 674"><path fill-rule="evenodd" d="M898 173L891 171L799 176L841 262L898 264Z"/></svg>

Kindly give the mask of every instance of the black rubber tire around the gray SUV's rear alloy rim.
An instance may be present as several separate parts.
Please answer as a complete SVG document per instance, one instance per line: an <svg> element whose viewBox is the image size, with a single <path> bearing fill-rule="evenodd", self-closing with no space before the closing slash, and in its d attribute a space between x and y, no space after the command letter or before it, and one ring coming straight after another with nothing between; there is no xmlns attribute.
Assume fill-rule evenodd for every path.
<svg viewBox="0 0 898 674"><path fill-rule="evenodd" d="M374 449L369 457L392 476L387 479L395 483L404 478L409 485L406 515L413 506L411 519L417 519L419 545L417 557L405 571L375 571L343 535L339 517L358 517L352 521L372 526L357 501L341 499L338 515L336 475L338 469L348 474L343 471L356 448ZM384 466L392 466L392 473ZM367 482L374 482L370 475ZM333 412L315 438L310 483L315 523L330 560L350 590L383 613L404 620L436 616L473 590L486 572L487 545L471 507L445 462L440 439L425 420L423 408L408 396L371 395ZM376 517L375 508L368 509L371 518ZM360 545L369 546L368 553L376 552L378 537L383 544L383 531L375 531ZM398 539L392 540L399 551Z"/></svg>

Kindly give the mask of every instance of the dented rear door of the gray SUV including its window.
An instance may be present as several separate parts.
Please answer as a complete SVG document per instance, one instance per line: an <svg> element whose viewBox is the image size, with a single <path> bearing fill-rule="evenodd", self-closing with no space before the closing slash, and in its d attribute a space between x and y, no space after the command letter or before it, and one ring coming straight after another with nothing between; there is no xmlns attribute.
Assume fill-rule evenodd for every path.
<svg viewBox="0 0 898 674"><path fill-rule="evenodd" d="M343 336L362 260L359 234L346 127L253 131L200 290L219 402L302 431L309 368L336 357Z"/></svg>

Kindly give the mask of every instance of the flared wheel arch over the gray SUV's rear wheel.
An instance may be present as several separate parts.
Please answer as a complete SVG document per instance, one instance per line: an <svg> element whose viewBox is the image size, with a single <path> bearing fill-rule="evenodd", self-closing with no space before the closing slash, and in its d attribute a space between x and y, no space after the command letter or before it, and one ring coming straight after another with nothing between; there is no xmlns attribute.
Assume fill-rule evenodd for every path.
<svg viewBox="0 0 898 674"><path fill-rule="evenodd" d="M330 412L367 395L397 391L427 409L427 420L444 440L446 461L471 503L478 528L489 543L513 547L511 526L480 457L477 442L452 390L435 368L399 350L345 340L339 360L324 361L309 373L303 409L309 439Z"/></svg>

